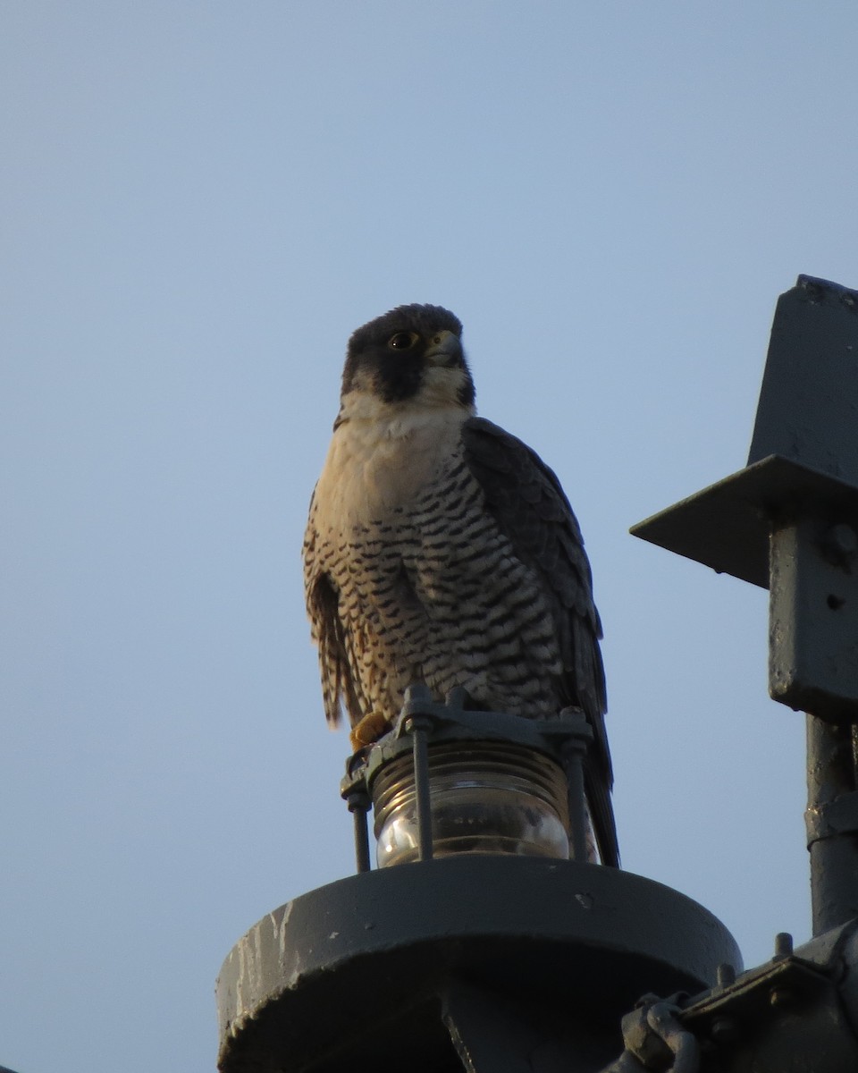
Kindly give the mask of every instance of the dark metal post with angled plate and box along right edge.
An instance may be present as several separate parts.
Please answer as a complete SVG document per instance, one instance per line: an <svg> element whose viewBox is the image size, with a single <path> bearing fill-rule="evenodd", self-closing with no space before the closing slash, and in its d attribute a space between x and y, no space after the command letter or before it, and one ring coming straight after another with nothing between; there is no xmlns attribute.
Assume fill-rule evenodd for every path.
<svg viewBox="0 0 858 1073"><path fill-rule="evenodd" d="M850 920L858 913L858 292L799 276L781 295L748 467L632 532L769 589L769 691L812 712L814 935Z"/></svg>

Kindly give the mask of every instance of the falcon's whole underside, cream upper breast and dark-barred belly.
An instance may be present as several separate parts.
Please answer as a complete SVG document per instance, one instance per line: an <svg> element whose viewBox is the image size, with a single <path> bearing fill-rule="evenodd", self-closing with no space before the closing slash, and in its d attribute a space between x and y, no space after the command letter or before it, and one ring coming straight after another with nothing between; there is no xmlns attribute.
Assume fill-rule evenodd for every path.
<svg viewBox="0 0 858 1073"><path fill-rule="evenodd" d="M375 422L335 436L305 545L331 721L341 695L353 725L371 712L389 722L413 681L438 699L463 686L482 707L557 712L550 609L486 511L461 424L447 412L401 435Z"/></svg>

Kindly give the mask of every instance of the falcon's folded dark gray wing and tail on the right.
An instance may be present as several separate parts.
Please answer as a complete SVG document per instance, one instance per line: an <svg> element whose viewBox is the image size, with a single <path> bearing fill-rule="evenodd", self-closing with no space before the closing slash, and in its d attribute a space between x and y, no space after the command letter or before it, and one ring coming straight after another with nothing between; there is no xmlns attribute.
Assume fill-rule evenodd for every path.
<svg viewBox="0 0 858 1073"><path fill-rule="evenodd" d="M618 866L605 671L598 647L602 623L581 531L557 476L521 440L489 421L471 417L462 426L462 442L486 509L519 558L535 571L549 600L563 659L559 707L581 708L593 729L585 768L587 798L602 859Z"/></svg>

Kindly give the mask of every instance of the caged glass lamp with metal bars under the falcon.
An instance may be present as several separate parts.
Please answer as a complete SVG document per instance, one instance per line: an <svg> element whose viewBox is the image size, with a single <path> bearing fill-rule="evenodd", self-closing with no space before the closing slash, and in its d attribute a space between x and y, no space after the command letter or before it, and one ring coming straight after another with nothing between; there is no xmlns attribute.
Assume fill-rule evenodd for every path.
<svg viewBox="0 0 858 1073"><path fill-rule="evenodd" d="M412 686L394 729L350 758L341 793L346 800L356 793L373 800L376 838L393 829L412 838L405 821L416 809L410 846L417 849L383 848L384 856L380 849L380 864L452 852L565 859L569 846L574 859L587 861L582 761L592 730L583 714L566 708L558 719L531 720L470 710L468 701L463 690L452 690L438 704L426 687ZM389 828L394 805L399 813ZM459 813L450 818L454 807Z"/></svg>

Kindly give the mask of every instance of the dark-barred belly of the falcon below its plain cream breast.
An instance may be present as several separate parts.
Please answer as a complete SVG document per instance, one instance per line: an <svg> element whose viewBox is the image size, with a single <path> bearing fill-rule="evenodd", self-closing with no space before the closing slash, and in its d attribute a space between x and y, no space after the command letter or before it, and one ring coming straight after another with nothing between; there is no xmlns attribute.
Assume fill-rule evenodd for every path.
<svg viewBox="0 0 858 1073"><path fill-rule="evenodd" d="M546 599L461 453L411 505L355 527L342 553L331 572L363 709L353 722L370 711L395 719L414 681L439 700L463 686L480 707L557 714L561 660Z"/></svg>

